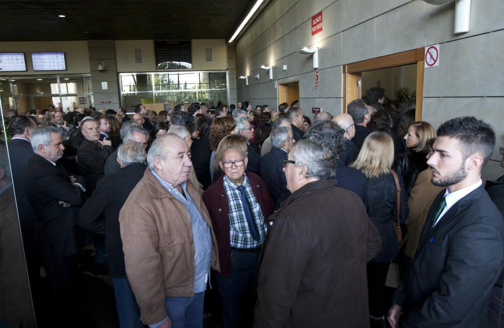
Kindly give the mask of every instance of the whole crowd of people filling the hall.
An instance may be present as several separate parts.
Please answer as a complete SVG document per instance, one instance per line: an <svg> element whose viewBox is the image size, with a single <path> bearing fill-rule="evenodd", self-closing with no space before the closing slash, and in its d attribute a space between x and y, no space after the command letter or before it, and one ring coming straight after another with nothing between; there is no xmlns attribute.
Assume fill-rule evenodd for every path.
<svg viewBox="0 0 504 328"><path fill-rule="evenodd" d="M299 101L212 107L10 111L30 285L43 267L53 326L75 319L89 245L121 327L202 327L210 287L225 328L499 326L504 183L481 180L489 124L436 130L381 88L312 120Z"/></svg>

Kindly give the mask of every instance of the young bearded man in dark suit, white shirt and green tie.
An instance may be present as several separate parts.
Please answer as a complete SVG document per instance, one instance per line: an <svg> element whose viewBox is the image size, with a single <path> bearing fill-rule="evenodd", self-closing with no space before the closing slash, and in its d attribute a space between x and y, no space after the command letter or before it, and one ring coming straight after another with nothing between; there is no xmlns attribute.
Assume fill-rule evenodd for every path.
<svg viewBox="0 0 504 328"><path fill-rule="evenodd" d="M437 130L427 164L447 187L427 214L411 270L389 311L393 327L486 327L490 293L504 264L504 220L481 181L495 145L474 117Z"/></svg>

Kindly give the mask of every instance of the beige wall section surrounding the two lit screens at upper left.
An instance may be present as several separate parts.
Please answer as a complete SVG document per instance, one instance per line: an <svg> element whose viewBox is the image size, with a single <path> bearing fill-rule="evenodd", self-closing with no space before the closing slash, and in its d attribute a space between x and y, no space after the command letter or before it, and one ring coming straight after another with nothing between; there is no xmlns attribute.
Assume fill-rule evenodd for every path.
<svg viewBox="0 0 504 328"><path fill-rule="evenodd" d="M65 52L67 70L33 71L32 52ZM75 74L89 73L89 55L87 41L39 41L39 42L0 42L0 52L24 52L26 72L0 72L0 75L34 75L34 74Z"/></svg>

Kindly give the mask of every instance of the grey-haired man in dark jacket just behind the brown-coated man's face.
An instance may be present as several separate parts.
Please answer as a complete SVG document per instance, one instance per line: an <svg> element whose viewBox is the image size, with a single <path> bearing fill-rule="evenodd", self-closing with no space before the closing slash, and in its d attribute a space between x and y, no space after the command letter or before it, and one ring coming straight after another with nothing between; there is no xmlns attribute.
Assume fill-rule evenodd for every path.
<svg viewBox="0 0 504 328"><path fill-rule="evenodd" d="M272 148L261 158L261 177L270 191L275 208L278 209L280 203L290 195L283 172L283 161L296 140L292 137L292 130L286 127L274 129L270 137Z"/></svg>

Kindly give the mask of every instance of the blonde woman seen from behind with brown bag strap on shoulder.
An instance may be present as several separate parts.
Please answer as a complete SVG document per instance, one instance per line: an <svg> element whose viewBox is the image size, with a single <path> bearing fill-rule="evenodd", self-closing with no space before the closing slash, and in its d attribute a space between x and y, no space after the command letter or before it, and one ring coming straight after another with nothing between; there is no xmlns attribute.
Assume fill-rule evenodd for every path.
<svg viewBox="0 0 504 328"><path fill-rule="evenodd" d="M367 264L371 327L380 327L387 314L385 281L390 263L396 258L398 249L394 229L394 222L397 222L397 187L391 173L393 161L392 137L384 132L372 132L364 140L357 159L350 165L367 178L367 213L382 238L380 253ZM408 198L404 192L403 180L400 175L397 176L401 187L399 219L404 223L408 217Z"/></svg>

